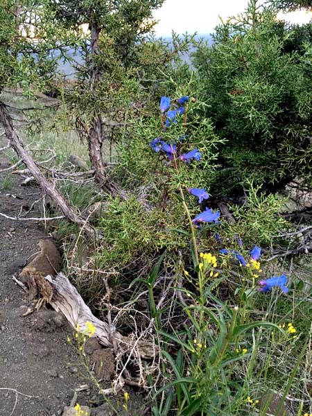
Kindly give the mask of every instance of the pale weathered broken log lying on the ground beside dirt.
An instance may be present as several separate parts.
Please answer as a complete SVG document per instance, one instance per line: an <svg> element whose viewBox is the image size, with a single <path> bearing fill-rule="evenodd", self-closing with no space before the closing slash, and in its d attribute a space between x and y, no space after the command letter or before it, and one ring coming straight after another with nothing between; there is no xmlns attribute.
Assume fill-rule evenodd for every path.
<svg viewBox="0 0 312 416"><path fill-rule="evenodd" d="M114 340L122 352L133 350L134 354L145 358L153 358L157 355L155 345L144 340L122 336L114 328L110 328L107 322L96 318L65 275L62 273L58 273L56 276L48 275L46 280L53 288L53 297L49 303L55 311L61 311L64 314L73 328L76 329L79 325L79 331L83 332L87 329L86 322L91 322L96 327L94 335L105 347L112 347Z"/></svg>

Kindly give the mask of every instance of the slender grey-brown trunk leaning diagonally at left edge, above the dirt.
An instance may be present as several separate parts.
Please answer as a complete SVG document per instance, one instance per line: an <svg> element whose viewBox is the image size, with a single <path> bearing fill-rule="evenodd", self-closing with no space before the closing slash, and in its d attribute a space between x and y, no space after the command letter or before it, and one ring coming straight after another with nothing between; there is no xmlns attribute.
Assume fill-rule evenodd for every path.
<svg viewBox="0 0 312 416"><path fill-rule="evenodd" d="M6 106L1 101L0 122L3 124L6 137L8 137L8 140L10 141L10 146L14 148L15 152L19 156L19 159L26 164L27 168L31 172L31 175L33 175L44 192L52 198L67 219L78 224L80 227L83 227L89 236L94 236L95 232L91 225L89 225L83 218L78 216L78 214L71 207L69 207L67 200L61 195L58 189L55 188L55 185L47 180L47 178L40 171L40 168L38 168L37 164L35 164L31 155L29 155L24 149L12 123L10 114L8 113L8 110L6 110Z"/></svg>

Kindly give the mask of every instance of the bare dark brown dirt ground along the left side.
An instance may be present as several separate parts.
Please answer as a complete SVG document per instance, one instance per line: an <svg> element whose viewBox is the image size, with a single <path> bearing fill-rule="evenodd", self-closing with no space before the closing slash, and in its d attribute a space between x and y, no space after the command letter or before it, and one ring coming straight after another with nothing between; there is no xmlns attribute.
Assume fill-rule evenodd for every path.
<svg viewBox="0 0 312 416"><path fill-rule="evenodd" d="M1 137L0 147L3 144ZM8 159L0 155L0 170L8 166ZM40 189L21 187L19 175L10 175L9 181L7 177L0 173L0 212L16 216L40 198ZM37 211L29 214L39 215ZM0 216L0 416L61 415L75 388L86 383L76 374L78 358L67 343L67 334L72 331L62 317L48 309L21 317L30 302L12 281L12 275L38 252L37 242L42 236L44 233L33 221ZM6 389L36 398L16 396ZM78 393L80 404L86 403L83 395Z"/></svg>

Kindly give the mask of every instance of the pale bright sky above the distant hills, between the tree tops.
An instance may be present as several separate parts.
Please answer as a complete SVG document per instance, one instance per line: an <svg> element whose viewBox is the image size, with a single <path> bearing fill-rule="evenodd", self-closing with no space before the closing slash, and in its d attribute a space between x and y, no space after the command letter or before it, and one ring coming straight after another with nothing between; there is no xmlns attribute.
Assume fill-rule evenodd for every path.
<svg viewBox="0 0 312 416"><path fill-rule="evenodd" d="M159 20L155 27L157 36L170 36L171 31L178 34L198 32L211 33L220 22L219 15L226 19L243 12L248 0L166 0L162 8L155 10L154 17ZM292 23L307 23L311 12L299 10L288 13L286 19Z"/></svg>

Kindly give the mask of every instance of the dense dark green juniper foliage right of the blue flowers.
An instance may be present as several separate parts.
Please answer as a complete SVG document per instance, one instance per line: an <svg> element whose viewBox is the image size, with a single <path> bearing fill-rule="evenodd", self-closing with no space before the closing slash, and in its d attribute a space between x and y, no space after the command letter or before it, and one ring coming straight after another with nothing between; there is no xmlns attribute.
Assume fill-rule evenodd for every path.
<svg viewBox="0 0 312 416"><path fill-rule="evenodd" d="M297 176L311 182L312 49L304 42L311 28L277 24L276 12L250 1L194 56L205 115L227 139L219 147L219 192L241 193L250 178L270 191Z"/></svg>

